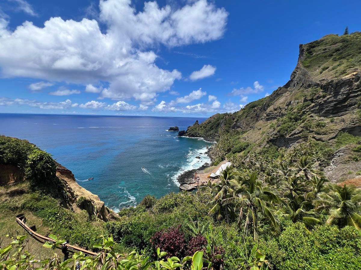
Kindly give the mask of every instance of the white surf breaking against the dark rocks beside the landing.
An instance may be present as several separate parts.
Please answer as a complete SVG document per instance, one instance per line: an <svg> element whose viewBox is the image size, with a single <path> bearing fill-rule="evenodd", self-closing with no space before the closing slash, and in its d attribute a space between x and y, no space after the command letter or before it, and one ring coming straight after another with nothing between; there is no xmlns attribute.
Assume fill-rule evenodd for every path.
<svg viewBox="0 0 361 270"><path fill-rule="evenodd" d="M194 150L194 151L193 151ZM206 147L200 149L192 149L188 150L187 154L187 162L185 164L181 164L177 173L171 177L171 180L174 182L175 185L179 186L177 181L177 177L181 175L184 171L190 171L193 169L197 169L204 165L204 163L210 163L209 156L205 153L207 151ZM200 154L202 153L202 154ZM201 157L201 159L196 158L197 156Z"/></svg>

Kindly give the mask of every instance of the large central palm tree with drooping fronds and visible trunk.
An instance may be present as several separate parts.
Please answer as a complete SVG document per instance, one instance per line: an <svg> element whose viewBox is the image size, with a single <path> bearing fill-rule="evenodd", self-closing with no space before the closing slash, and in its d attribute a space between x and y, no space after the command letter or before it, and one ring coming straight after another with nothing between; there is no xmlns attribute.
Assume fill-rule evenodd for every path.
<svg viewBox="0 0 361 270"><path fill-rule="evenodd" d="M273 202L278 202L278 193L269 186L263 185L258 180L257 171L248 173L245 179L238 178L239 188L235 196L227 201L235 202L240 206L239 221L242 219L243 211L246 213L244 231L248 236L249 228L253 226L253 238L257 238L258 219L263 218L270 221L271 225L279 228L277 217L274 213Z"/></svg>

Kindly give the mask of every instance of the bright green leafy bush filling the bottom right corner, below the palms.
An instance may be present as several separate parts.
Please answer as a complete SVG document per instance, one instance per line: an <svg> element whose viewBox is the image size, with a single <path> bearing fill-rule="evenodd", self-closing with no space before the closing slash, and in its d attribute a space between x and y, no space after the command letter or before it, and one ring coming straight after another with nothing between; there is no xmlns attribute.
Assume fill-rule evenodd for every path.
<svg viewBox="0 0 361 270"><path fill-rule="evenodd" d="M279 270L360 269L361 231L320 225L309 232L302 223L288 226L261 250Z"/></svg>

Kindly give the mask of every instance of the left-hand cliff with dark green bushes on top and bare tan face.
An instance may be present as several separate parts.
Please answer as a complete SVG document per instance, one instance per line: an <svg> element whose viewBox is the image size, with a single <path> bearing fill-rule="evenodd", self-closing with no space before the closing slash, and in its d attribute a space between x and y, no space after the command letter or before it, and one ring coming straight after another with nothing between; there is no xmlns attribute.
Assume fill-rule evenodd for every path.
<svg viewBox="0 0 361 270"><path fill-rule="evenodd" d="M74 212L86 210L108 221L117 214L100 198L82 188L74 174L27 140L0 136L0 185L29 182L32 191L49 194Z"/></svg>

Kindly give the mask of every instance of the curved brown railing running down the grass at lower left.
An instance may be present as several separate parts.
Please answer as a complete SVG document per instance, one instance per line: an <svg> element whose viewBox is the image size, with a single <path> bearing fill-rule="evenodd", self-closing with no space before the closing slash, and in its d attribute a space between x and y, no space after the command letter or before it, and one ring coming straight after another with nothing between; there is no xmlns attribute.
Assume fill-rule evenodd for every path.
<svg viewBox="0 0 361 270"><path fill-rule="evenodd" d="M22 226L22 227L24 228L24 230L27 231L27 233L29 233L32 238L34 238L35 240L39 241L40 243L43 243L43 244L44 244L45 242L50 242L50 243L54 243L54 242L55 242L53 239L51 239L51 238L49 238L49 237L46 237L46 236L44 236L44 235L41 235L41 234L36 233L36 227L35 227L35 225L30 226L30 227L27 226L27 225L25 224L25 222L26 222L26 217L25 217L24 214L17 215L17 216L16 216L16 222L18 222L18 224L19 224L20 226ZM75 252L83 252L84 254L89 255L89 256L93 256L93 257L95 257L95 256L98 255L98 253L95 253L95 252L92 252L92 251L88 251L88 250L86 250L86 249L79 248L79 247L76 247L76 246L72 246L72 245L69 245L69 244L66 244L66 243L60 244L59 246L57 246L57 248L59 248L59 249L62 249L62 247L63 247L63 249L64 249L64 247L65 247L68 252L72 252L72 253L75 253Z"/></svg>

